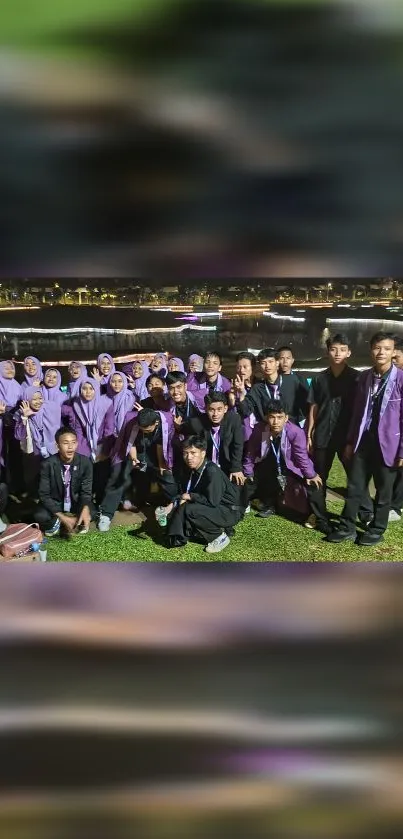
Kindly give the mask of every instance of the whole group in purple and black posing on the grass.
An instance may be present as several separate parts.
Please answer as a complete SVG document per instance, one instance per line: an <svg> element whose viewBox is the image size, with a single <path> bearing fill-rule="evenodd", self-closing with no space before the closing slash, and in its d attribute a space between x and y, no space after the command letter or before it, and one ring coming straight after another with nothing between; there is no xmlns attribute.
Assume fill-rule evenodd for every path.
<svg viewBox="0 0 403 839"><path fill-rule="evenodd" d="M403 342L373 335L361 374L346 335L329 338L327 352L309 384L289 346L239 353L232 380L214 350L186 367L161 353L122 370L101 353L90 373L70 364L66 391L37 358L24 360L22 384L2 361L0 513L10 496L29 498L48 536L87 532L91 521L106 532L119 506L140 510L157 488L168 547L193 539L218 553L252 501L258 516L291 516L329 542L375 545L403 506ZM335 525L326 482L336 454L347 494Z"/></svg>

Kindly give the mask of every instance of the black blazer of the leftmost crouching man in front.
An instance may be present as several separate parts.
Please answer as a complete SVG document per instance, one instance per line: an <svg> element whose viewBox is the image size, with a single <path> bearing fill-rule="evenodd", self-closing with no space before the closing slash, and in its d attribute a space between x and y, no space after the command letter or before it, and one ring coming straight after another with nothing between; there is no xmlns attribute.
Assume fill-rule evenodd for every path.
<svg viewBox="0 0 403 839"><path fill-rule="evenodd" d="M71 508L80 515L83 507L92 501L92 461L82 454L75 454L71 464ZM62 462L58 454L42 461L39 480L39 500L50 513L63 512L64 485Z"/></svg>

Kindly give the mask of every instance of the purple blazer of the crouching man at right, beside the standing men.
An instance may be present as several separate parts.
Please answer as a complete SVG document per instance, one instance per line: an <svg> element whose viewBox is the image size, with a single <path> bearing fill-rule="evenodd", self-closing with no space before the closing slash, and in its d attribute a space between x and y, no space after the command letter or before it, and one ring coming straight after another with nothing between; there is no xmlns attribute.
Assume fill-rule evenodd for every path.
<svg viewBox="0 0 403 839"><path fill-rule="evenodd" d="M266 456L270 446L270 431L266 423L258 422L246 444L244 474L253 475L255 463ZM281 435L281 452L287 469L298 478L314 478L315 467L309 457L306 436L293 422L286 422Z"/></svg>

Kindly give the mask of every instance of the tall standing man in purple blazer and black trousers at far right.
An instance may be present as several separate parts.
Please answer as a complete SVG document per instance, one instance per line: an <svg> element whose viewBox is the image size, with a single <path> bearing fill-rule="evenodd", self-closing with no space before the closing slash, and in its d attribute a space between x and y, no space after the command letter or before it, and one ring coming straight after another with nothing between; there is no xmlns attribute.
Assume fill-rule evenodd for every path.
<svg viewBox="0 0 403 839"><path fill-rule="evenodd" d="M359 545L377 545L388 526L393 486L403 467L403 370L393 364L395 340L378 332L370 341L373 366L357 383L353 416L347 435L345 457L352 459L347 497L340 524L328 540L355 541L355 521L360 500L374 479L374 518Z"/></svg>

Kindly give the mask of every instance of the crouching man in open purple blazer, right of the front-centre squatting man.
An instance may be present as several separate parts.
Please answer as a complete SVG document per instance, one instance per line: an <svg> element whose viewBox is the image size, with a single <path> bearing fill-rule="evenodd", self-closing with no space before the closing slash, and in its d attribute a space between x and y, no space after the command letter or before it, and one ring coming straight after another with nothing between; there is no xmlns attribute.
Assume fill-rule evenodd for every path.
<svg viewBox="0 0 403 839"><path fill-rule="evenodd" d="M308 517L314 513L317 530L330 533L330 525L321 517L322 480L308 455L305 433L289 421L280 400L268 404L266 423L253 429L243 471L249 478L249 498L256 496L262 502L260 517L289 509L293 518L305 519L309 526Z"/></svg>

